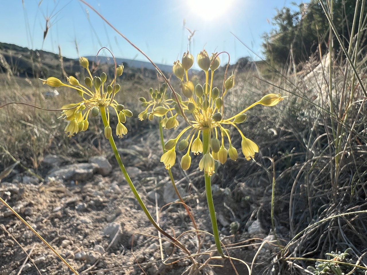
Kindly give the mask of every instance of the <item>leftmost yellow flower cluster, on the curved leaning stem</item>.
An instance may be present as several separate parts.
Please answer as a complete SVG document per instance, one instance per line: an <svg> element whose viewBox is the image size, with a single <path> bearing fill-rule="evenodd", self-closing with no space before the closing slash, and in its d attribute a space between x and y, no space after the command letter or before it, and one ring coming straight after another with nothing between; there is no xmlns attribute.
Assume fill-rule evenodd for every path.
<svg viewBox="0 0 367 275"><path fill-rule="evenodd" d="M86 86L79 83L79 81L73 76L67 78L69 84L64 84L61 80L55 77L49 77L47 80L43 80L43 84L50 85L51 87L66 86L73 88L83 99L78 103L71 103L62 106L62 117L68 121L68 124L65 127L65 133L69 133L69 136L73 136L80 131L86 131L89 125L89 114L97 116L100 111L107 111L108 125L105 127L105 136L106 138L109 138L112 136L112 128L109 125L110 115L108 107L112 107L116 112L118 119L116 135L118 137L126 135L127 128L124 123L126 122L126 117L132 116L132 112L128 109L124 109L124 105L119 104L114 99L116 93L120 91L120 85L115 84L115 79L113 79L109 85L106 85L107 75L105 73L102 73L100 77L92 77L87 58L81 57L79 59L79 63L82 67L87 69L89 74L89 76L84 80ZM117 67L116 76L121 76L123 69L123 65Z"/></svg>

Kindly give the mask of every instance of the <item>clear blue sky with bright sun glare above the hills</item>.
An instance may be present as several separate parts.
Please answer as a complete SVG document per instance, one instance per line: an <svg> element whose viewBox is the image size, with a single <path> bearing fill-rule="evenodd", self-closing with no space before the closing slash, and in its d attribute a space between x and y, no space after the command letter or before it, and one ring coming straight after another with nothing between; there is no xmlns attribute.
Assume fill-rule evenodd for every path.
<svg viewBox="0 0 367 275"><path fill-rule="evenodd" d="M121 33L156 63L172 64L188 49L189 31L194 56L227 51L231 63L243 56L255 56L230 32L261 55L261 36L276 8L291 7L300 0L87 0ZM211 4L207 4L211 3ZM39 5L40 3L40 5ZM69 58L95 55L105 46L116 57L145 60L92 10L77 0L0 0L0 41L58 53ZM4 13L4 11L6 11ZM46 19L49 29L43 44ZM76 44L79 54L76 50ZM106 53L107 54L107 53ZM226 59L222 56L223 61Z"/></svg>

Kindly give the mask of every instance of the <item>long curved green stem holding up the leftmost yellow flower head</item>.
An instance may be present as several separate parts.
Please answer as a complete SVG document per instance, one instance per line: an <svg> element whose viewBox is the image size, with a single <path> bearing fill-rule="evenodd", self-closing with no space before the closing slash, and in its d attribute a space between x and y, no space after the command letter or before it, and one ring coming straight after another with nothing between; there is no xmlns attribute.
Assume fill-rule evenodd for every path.
<svg viewBox="0 0 367 275"><path fill-rule="evenodd" d="M102 116L102 121L103 121L103 125L106 127L108 126L108 121L107 121L107 115L106 115L106 109L104 107L100 108L101 111L101 116ZM116 144L115 144L115 140L113 140L113 137L110 136L108 141L110 142L110 145L112 147L112 151L113 154L115 154L117 163L120 166L121 172L124 174L124 177L132 191L132 193L134 194L135 198L137 199L137 201L139 202L139 205L141 206L141 208L143 209L145 215L148 217L150 223L153 224L153 226L159 231L161 232L164 236L166 236L168 239L170 239L173 243L175 243L175 245L177 245L179 248L181 248L183 251L185 251L188 255L190 255L189 250L182 245L182 243L180 243L179 241L177 241L177 239L173 238L171 235L169 235L168 233L166 233L166 231L164 231L162 228L159 227L159 225L156 223L156 221L153 219L152 215L150 215L148 209L146 208L143 200L141 199L138 191L136 190L134 184L132 183L126 169L125 166L121 160L119 151L117 150Z"/></svg>

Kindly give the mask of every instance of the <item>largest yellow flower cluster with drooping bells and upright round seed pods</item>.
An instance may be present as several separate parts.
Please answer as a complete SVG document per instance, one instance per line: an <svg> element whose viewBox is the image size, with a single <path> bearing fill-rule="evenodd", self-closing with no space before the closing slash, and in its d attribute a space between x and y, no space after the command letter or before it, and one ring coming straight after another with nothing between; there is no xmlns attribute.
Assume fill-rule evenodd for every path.
<svg viewBox="0 0 367 275"><path fill-rule="evenodd" d="M232 146L230 132L226 126L233 126L240 133L242 137L241 149L244 157L247 160L254 158L255 153L259 151L258 146L252 140L245 137L237 125L246 120L245 112L250 108L257 104L274 106L283 100L283 97L280 94L265 95L259 101L253 103L233 117L224 118L223 100L228 90L235 84L233 73L225 80L222 92L217 87L212 87L214 71L218 69L220 59L217 53L213 53L209 57L205 50L201 51L197 55L197 65L205 72L205 83L204 85L197 84L194 87L194 84L188 78L188 70L193 63L193 56L189 52L185 52L181 62L177 60L174 62L172 68L173 73L180 80L182 94L187 100L182 100L178 94L178 100L174 96L171 96L169 103L172 107L168 106L167 102L164 106L155 107L150 115L164 116L168 112L174 111L175 114L171 118L174 117L174 120L176 120L177 115L182 115L189 123L189 126L184 128L176 138L168 140L164 146L167 151L162 155L161 162L164 163L167 169L175 164L175 150L177 147L180 151L186 150L186 154L181 158L181 168L183 170L190 167L190 153L195 155L203 153L203 157L199 162L199 168L200 170L204 170L208 175L212 175L215 169L215 161L224 164L228 156L234 161L238 157L236 148ZM210 81L209 71L211 72ZM181 110L183 110L183 113ZM167 122L169 120L170 118L168 118ZM172 128L167 127L167 122L166 128ZM228 140L228 147L225 146L225 139Z"/></svg>

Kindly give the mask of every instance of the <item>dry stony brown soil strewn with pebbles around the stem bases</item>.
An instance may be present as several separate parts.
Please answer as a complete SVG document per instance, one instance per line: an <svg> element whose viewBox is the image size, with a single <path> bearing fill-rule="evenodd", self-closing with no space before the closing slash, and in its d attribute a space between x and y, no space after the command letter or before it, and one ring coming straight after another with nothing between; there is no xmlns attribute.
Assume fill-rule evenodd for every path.
<svg viewBox="0 0 367 275"><path fill-rule="evenodd" d="M182 205L170 204L177 198L167 171L159 162L159 152L147 150L144 139L138 143L133 140L121 142L121 155L150 213L156 217L158 209L160 226L175 236L193 230ZM158 146L157 142L153 148ZM166 260L162 263L157 231L135 200L112 154L83 161L48 154L40 171L45 180L16 166L1 182L0 195L80 274L192 272L189 269L193 265L192 260L185 258L186 254L174 249L168 241L161 245ZM182 179L183 174L178 167L173 169L173 173L175 178ZM194 169L190 175L177 181L177 187L192 208L197 227L211 232L204 179L199 175L201 173ZM213 186L218 225L228 253L251 265L262 239L272 241L273 235L254 214L261 203L256 200L246 203L244 198L249 190L243 181L237 182L232 189ZM251 187L251 196L264 196L264 187ZM230 224L234 221L239 227L233 228L232 225L231 230ZM180 241L192 253L198 252L197 237L193 232L183 234ZM201 236L201 241L200 252L208 251L217 256L211 252L214 251L214 239L210 235ZM232 245L235 243L237 245ZM269 249L272 249L269 245L262 247L255 263L263 265L255 265L254 274L261 272L261 267L266 264ZM208 257L204 254L195 260L203 263ZM229 262L211 261L210 264L224 267L207 265L202 270L205 274L236 274ZM32 231L10 210L1 206L0 275L39 274L35 266L41 274L71 274ZM247 274L243 264L236 262L235 266L238 274Z"/></svg>

